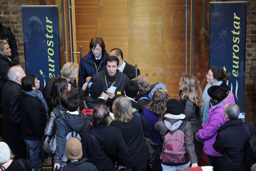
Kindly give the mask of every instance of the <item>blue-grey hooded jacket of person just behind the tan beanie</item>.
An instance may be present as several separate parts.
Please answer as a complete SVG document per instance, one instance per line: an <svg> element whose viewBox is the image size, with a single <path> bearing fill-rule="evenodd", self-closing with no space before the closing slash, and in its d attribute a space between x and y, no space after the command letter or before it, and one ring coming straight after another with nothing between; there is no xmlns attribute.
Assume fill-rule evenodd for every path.
<svg viewBox="0 0 256 171"><path fill-rule="evenodd" d="M66 135L75 131L79 134L90 131L90 120L83 114L70 114L63 112L56 118L56 151L54 163L62 163L62 157L66 148Z"/></svg>

